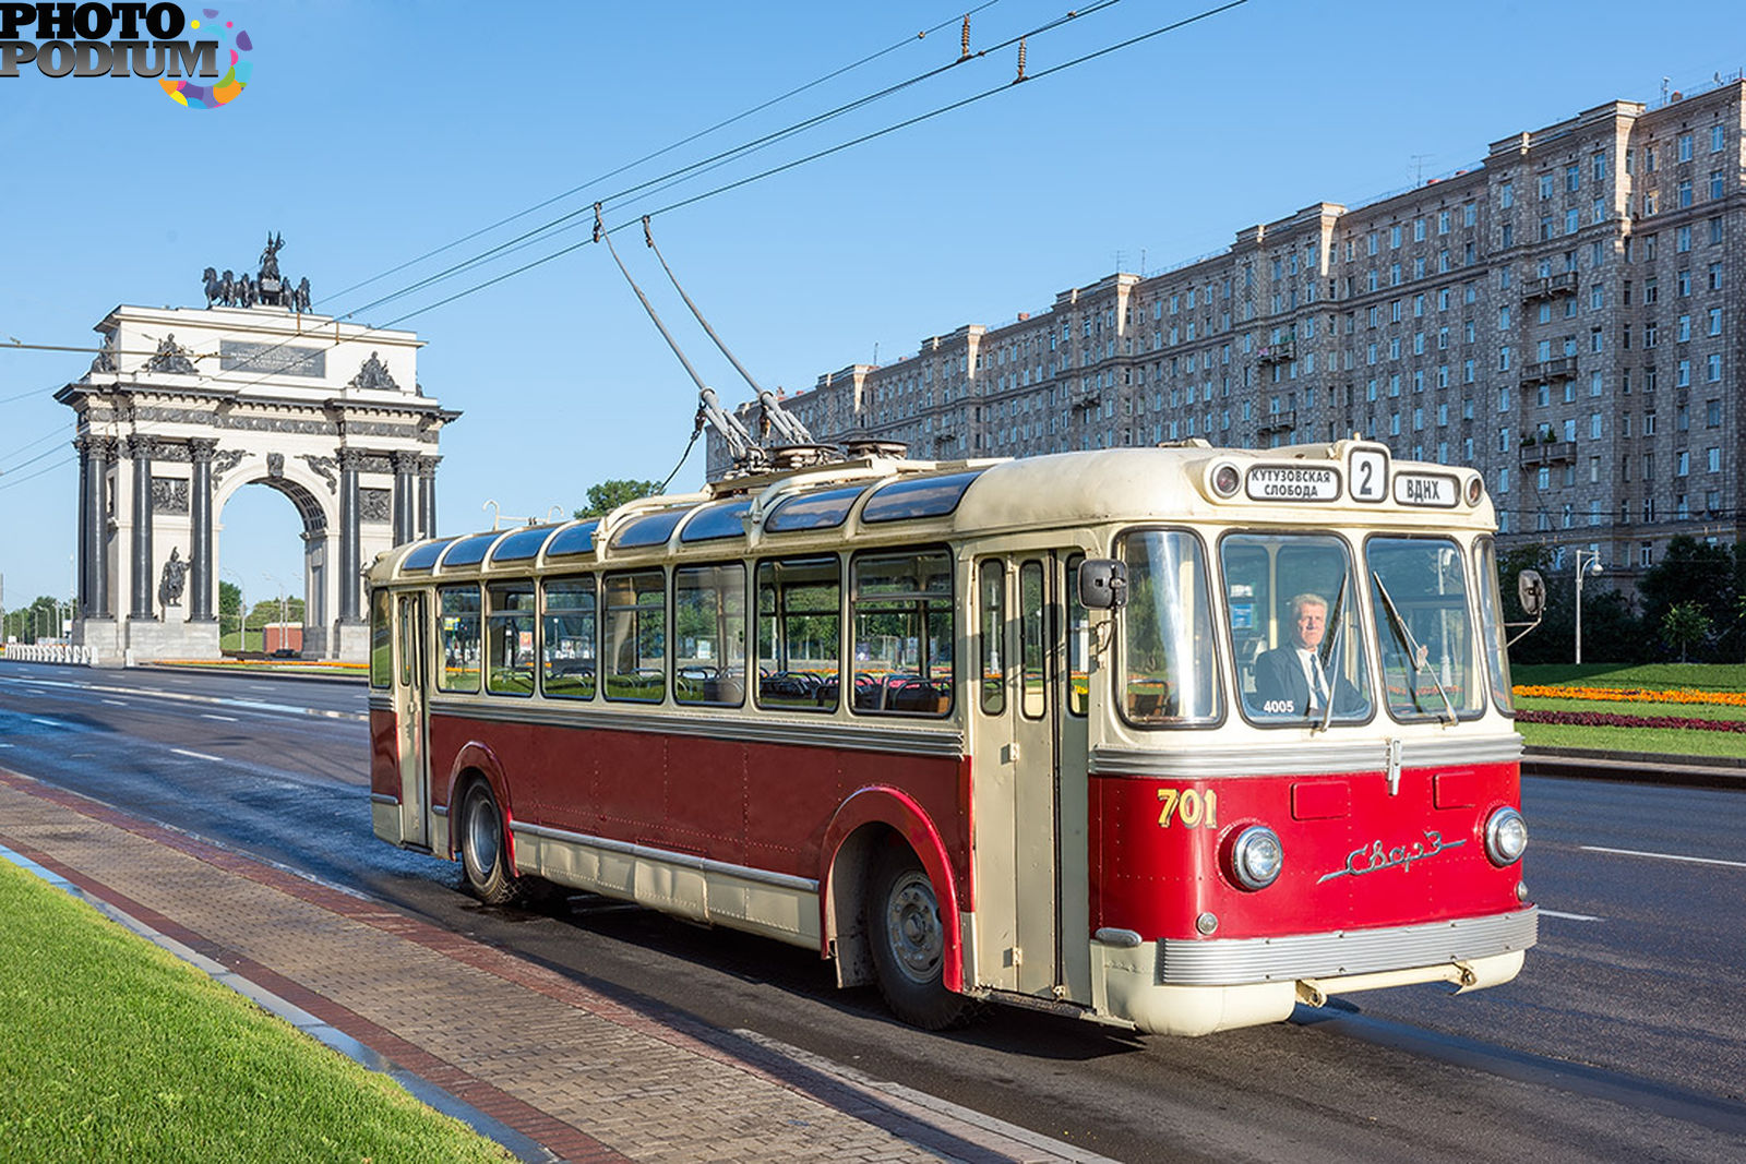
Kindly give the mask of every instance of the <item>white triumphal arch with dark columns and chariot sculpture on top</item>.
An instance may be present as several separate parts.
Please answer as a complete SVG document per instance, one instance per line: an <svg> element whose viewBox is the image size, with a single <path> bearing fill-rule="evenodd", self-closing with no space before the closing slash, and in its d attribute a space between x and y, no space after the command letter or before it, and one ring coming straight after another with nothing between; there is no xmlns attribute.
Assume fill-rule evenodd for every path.
<svg viewBox="0 0 1746 1164"><path fill-rule="evenodd" d="M269 236L258 276L206 272L206 307L117 307L77 414L79 614L100 663L218 656L217 515L244 485L302 518L304 656L363 660L363 571L436 529L436 445L419 339L309 312Z"/></svg>

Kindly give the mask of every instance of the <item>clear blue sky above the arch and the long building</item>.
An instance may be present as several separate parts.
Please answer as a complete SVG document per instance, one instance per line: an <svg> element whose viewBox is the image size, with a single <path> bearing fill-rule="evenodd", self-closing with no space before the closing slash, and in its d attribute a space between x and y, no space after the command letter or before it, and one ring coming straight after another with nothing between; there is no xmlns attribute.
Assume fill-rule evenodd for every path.
<svg viewBox="0 0 1746 1164"><path fill-rule="evenodd" d="M281 265L309 277L318 312L358 311L597 197L948 65L964 12L908 0L218 7L255 42L248 91L220 110L182 110L141 79L0 79L0 344L80 346L117 304L203 304L201 269L251 267L267 230L285 236ZM1206 7L1121 0L1090 10L1032 37L1027 68L1035 77ZM973 49L1063 10L1060 0L997 0L971 19ZM1657 101L1662 77L1697 89L1746 63L1743 31L1736 3L1250 0L1016 87L1002 87L1016 52L992 52L670 190L622 199L608 225L1000 89L656 215L663 253L740 361L766 387L794 391L875 353L911 354L964 323L1044 309L1117 267L1156 270L1222 250L1240 229L1315 201L1360 204L1472 166L1495 140L1603 101ZM356 321L388 325L583 237L583 227L559 234ZM744 398L749 389L686 326L641 232L615 239L704 377L725 400ZM489 525L485 501L545 515L580 504L604 478L665 476L690 436L695 389L604 248L398 326L430 344L426 391L464 412L443 433L443 532ZM51 396L87 361L0 346L7 606L70 588L73 417ZM700 480L698 450L674 487ZM246 489L222 520L225 562L251 599L278 590L269 576L299 585L288 501Z"/></svg>

